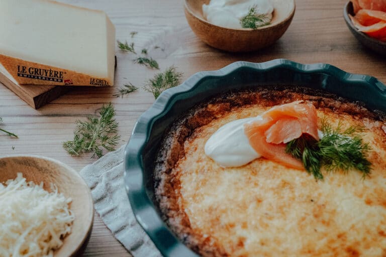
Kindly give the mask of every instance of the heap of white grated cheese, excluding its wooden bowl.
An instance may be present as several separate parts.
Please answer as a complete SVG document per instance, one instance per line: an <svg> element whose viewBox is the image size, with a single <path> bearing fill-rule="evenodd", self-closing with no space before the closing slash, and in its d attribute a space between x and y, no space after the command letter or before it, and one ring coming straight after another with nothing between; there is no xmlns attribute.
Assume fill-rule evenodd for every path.
<svg viewBox="0 0 386 257"><path fill-rule="evenodd" d="M55 185L47 192L43 182L26 182L22 173L0 183L0 256L53 256L71 232L71 201Z"/></svg>

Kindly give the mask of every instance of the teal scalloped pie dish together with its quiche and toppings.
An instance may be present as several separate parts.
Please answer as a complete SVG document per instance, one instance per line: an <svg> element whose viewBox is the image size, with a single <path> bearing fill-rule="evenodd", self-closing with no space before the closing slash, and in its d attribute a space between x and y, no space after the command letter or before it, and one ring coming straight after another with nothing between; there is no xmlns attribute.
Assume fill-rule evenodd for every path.
<svg viewBox="0 0 386 257"><path fill-rule="evenodd" d="M164 256L382 256L385 90L283 59L195 74L126 147L138 222Z"/></svg>

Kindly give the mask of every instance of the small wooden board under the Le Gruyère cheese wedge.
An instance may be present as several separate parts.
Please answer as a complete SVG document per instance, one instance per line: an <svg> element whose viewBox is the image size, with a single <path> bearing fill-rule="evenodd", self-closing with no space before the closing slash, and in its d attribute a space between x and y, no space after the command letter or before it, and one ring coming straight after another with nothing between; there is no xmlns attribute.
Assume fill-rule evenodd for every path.
<svg viewBox="0 0 386 257"><path fill-rule="evenodd" d="M68 86L20 85L2 65L0 65L0 82L35 109L58 98L71 88Z"/></svg>

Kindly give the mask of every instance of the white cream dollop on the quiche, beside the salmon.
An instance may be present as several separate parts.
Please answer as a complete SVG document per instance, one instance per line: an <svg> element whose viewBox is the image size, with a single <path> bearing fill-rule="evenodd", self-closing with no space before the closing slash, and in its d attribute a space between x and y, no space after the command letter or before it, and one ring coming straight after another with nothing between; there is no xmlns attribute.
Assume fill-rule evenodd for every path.
<svg viewBox="0 0 386 257"><path fill-rule="evenodd" d="M236 119L220 127L205 144L205 154L223 167L243 166L261 157L244 133L244 124L256 119L261 117Z"/></svg>

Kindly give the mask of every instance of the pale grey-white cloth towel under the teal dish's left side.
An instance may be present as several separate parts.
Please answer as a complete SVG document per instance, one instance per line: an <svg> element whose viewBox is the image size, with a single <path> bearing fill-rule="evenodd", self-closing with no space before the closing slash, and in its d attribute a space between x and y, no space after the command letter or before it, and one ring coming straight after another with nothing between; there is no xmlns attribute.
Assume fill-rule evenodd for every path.
<svg viewBox="0 0 386 257"><path fill-rule="evenodd" d="M80 176L91 189L96 212L134 257L162 256L131 209L123 182L124 149L123 146L84 167Z"/></svg>

